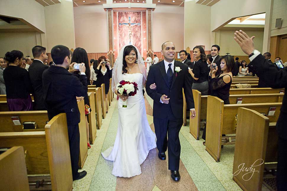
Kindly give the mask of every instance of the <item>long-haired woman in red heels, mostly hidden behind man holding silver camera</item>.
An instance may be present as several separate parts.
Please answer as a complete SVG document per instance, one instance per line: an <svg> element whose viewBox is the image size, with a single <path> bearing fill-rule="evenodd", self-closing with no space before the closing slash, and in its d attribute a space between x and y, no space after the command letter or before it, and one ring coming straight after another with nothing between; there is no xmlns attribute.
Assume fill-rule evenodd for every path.
<svg viewBox="0 0 287 191"><path fill-rule="evenodd" d="M87 81L89 84L90 81L90 76L91 76L91 71L90 71L90 66L89 66L89 59L88 59L88 54L86 52L85 49L83 48L76 48L73 52L73 56L71 59L71 63L83 63L85 64L86 67L86 76L87 76ZM78 76L78 78L80 78L80 72L79 71L75 71L73 72L74 74L76 74ZM88 88L88 86L87 86ZM88 122L88 115L91 112L91 107L90 107L90 100L88 97L88 94L86 94L85 97L77 97L77 100L82 100L84 99L84 104L85 104L85 115L86 115L86 131L87 131L87 143L88 143L88 148L91 148L90 146L90 141L89 141L89 137L90 137L90 130L89 130L89 122Z"/></svg>

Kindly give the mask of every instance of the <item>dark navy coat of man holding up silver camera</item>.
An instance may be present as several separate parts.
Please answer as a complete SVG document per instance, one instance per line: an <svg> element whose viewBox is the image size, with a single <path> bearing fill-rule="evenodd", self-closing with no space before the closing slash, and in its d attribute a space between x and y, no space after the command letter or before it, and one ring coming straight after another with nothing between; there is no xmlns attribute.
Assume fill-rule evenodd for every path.
<svg viewBox="0 0 287 191"><path fill-rule="evenodd" d="M43 93L49 120L59 113L67 114L67 125L80 123L77 97L88 92L87 76L75 74L60 66L50 66L43 72Z"/></svg>

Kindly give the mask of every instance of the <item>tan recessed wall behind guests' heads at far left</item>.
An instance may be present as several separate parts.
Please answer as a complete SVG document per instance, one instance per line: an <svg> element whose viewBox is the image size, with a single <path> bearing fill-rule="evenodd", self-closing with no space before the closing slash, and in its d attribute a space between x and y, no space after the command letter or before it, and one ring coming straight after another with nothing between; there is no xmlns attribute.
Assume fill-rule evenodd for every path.
<svg viewBox="0 0 287 191"><path fill-rule="evenodd" d="M24 56L32 55L32 48L37 44L38 32L1 32L0 33L0 57L4 57L8 51L20 50Z"/></svg>

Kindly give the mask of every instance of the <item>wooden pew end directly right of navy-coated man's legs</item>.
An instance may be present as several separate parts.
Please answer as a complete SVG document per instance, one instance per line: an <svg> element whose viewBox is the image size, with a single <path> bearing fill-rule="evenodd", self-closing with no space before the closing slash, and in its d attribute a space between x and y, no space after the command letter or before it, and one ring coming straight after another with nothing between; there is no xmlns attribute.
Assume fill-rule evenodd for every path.
<svg viewBox="0 0 287 191"><path fill-rule="evenodd" d="M87 145L87 130L86 130L86 117L85 117L85 105L84 100L78 102L80 111L80 156L79 156L79 168L82 169L88 156L88 145Z"/></svg>

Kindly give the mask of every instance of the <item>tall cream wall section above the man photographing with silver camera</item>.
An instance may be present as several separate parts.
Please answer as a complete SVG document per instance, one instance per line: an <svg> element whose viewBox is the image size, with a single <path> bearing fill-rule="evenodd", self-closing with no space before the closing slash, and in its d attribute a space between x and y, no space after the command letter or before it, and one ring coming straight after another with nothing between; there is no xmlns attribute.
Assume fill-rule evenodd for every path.
<svg viewBox="0 0 287 191"><path fill-rule="evenodd" d="M55 45L75 49L75 25L72 0L45 6L47 52Z"/></svg>

